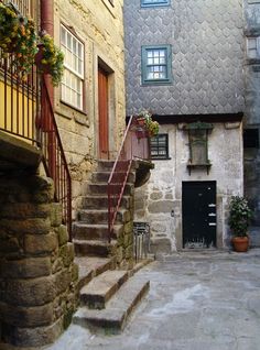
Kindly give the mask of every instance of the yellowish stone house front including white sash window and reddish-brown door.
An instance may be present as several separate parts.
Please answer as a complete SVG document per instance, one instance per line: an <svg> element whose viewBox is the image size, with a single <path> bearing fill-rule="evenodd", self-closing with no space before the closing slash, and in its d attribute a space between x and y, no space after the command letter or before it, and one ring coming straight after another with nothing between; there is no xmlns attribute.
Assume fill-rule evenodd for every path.
<svg viewBox="0 0 260 350"><path fill-rule="evenodd" d="M54 1L54 37L65 52L54 107L78 208L83 183L97 160L115 158L124 130L122 1Z"/></svg>

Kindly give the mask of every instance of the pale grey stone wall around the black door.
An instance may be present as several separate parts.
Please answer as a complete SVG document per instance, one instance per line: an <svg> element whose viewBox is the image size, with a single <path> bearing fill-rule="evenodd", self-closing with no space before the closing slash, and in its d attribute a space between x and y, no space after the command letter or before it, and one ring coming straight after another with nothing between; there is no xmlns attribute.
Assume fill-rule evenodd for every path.
<svg viewBox="0 0 260 350"><path fill-rule="evenodd" d="M227 226L230 196L241 195L243 186L242 134L239 123L216 123L208 136L212 168L188 174L188 136L183 124L160 127L169 134L170 160L153 161L149 183L136 190L136 220L151 227L152 252L170 253L182 249L182 182L217 182L217 247L229 244ZM224 145L228 145L225 146ZM174 216L172 216L172 210Z"/></svg>

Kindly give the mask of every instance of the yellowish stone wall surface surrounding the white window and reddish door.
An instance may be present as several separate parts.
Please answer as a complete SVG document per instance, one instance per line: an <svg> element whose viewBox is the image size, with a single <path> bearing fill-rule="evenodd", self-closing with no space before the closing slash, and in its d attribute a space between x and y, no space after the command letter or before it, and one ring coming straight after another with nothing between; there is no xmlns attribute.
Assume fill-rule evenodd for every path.
<svg viewBox="0 0 260 350"><path fill-rule="evenodd" d="M124 56L122 3L108 0L54 1L55 42L59 45L59 23L75 31L85 47L85 111L59 100L55 89L55 111L72 174L73 208L80 207L83 182L88 181L98 158L98 65L108 73L109 150L113 158L124 130ZM75 211L73 212L75 217Z"/></svg>

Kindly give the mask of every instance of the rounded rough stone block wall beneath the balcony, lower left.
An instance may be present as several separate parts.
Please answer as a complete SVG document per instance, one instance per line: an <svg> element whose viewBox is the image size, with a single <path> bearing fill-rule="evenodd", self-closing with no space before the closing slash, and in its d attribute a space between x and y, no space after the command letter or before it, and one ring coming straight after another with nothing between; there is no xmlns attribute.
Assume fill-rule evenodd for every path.
<svg viewBox="0 0 260 350"><path fill-rule="evenodd" d="M0 348L50 343L75 310L74 247L53 195L50 178L0 176Z"/></svg>

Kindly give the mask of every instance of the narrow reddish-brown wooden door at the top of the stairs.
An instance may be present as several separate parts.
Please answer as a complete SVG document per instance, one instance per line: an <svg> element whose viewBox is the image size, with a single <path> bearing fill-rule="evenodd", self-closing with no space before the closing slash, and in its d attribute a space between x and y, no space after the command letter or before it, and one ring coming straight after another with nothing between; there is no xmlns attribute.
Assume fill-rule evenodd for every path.
<svg viewBox="0 0 260 350"><path fill-rule="evenodd" d="M108 158L108 75L100 67L98 68L98 111L99 157Z"/></svg>

